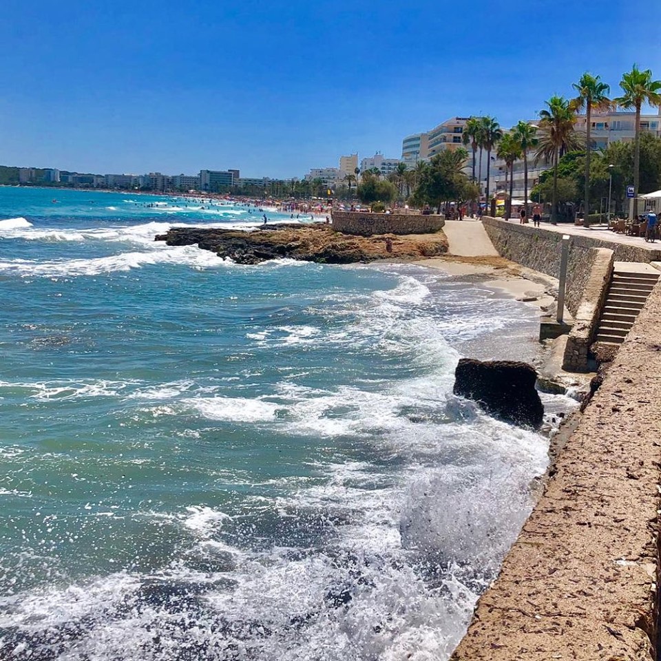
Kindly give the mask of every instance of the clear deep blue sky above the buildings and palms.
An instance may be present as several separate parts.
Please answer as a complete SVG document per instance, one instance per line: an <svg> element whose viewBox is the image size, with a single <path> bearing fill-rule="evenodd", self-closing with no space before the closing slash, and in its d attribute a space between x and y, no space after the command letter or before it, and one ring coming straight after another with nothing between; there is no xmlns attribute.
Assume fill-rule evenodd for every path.
<svg viewBox="0 0 661 661"><path fill-rule="evenodd" d="M644 35L644 26L649 35ZM661 3L3 0L0 163L302 176L450 116L661 79ZM589 34L585 44L585 34Z"/></svg>

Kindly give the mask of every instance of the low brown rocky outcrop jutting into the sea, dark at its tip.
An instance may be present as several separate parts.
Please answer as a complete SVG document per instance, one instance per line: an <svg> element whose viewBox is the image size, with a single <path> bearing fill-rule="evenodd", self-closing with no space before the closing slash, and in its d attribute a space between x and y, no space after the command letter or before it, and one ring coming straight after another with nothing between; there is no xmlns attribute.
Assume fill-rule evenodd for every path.
<svg viewBox="0 0 661 661"><path fill-rule="evenodd" d="M197 244L238 264L290 258L324 264L353 264L384 259L419 259L442 255L448 240L442 232L428 235L345 235L326 224L273 224L242 231L177 227L156 236L169 246Z"/></svg>

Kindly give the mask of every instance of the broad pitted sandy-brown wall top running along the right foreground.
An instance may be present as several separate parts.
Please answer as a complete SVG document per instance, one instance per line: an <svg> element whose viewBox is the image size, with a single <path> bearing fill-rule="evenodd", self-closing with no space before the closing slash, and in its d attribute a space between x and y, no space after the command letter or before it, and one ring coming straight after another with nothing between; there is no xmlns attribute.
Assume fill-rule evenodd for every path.
<svg viewBox="0 0 661 661"><path fill-rule="evenodd" d="M657 658L661 284L452 661Z"/></svg>

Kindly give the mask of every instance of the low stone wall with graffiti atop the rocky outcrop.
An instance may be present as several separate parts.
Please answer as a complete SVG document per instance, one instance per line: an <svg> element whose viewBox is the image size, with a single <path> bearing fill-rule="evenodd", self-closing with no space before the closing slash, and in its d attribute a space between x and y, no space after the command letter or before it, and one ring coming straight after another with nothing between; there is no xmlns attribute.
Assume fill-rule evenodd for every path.
<svg viewBox="0 0 661 661"><path fill-rule="evenodd" d="M443 229L441 216L422 216L420 213L366 213L362 211L333 211L333 229L345 234L372 236L373 234L432 234Z"/></svg>

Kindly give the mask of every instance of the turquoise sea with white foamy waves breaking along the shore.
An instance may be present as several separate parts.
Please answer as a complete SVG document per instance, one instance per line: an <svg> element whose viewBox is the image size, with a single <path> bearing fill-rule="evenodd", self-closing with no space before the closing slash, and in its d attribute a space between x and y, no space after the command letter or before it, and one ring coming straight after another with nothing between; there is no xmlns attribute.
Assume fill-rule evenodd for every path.
<svg viewBox="0 0 661 661"><path fill-rule="evenodd" d="M465 633L549 440L454 368L532 359L538 311L154 241L292 221L262 209L0 188L0 658L437 661Z"/></svg>

